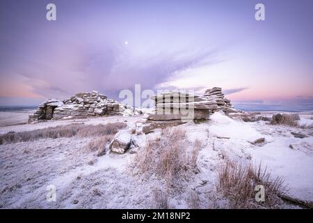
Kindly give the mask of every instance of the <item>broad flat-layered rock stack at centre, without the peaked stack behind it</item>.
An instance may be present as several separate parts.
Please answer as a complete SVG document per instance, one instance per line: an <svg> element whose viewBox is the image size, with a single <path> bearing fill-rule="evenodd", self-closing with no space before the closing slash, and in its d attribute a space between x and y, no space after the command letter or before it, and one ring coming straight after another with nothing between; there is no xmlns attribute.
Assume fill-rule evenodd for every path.
<svg viewBox="0 0 313 223"><path fill-rule="evenodd" d="M155 102L156 114L147 117L149 121L188 121L209 118L212 110L218 105L200 95L181 92L167 92L152 96Z"/></svg>

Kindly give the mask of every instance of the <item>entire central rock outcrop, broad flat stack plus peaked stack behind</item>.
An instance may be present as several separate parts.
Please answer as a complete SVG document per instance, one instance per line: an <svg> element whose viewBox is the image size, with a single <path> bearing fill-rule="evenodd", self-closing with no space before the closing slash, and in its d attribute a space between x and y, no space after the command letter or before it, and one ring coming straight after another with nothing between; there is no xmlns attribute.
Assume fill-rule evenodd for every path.
<svg viewBox="0 0 313 223"><path fill-rule="evenodd" d="M155 114L147 116L143 132L148 134L156 128L167 128L187 121L209 118L214 112L223 112L231 118L246 116L246 112L234 109L230 100L225 98L222 89L214 87L204 95L191 95L170 91L152 96L155 102Z"/></svg>

